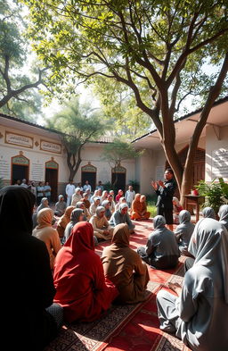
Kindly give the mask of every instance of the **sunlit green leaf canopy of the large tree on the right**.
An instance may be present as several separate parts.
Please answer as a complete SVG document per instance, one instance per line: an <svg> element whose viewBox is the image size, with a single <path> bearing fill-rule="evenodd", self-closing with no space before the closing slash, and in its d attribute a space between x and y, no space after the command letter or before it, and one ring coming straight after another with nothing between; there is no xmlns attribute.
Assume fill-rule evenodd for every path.
<svg viewBox="0 0 228 351"><path fill-rule="evenodd" d="M219 64L228 44L225 0L103 3L24 0L23 3L28 5L33 21L28 35L39 57L52 66L51 84L59 91L72 79L89 83L97 77L99 86L101 77L111 78L128 88L132 88L133 82L143 103L148 108L155 107L159 94L155 72L167 79L187 46L191 49L199 46L198 50L189 52L182 67L183 87L179 98L190 90L192 94L202 93L205 79L209 82L214 79L209 71L202 77L203 63ZM195 26L191 33L192 23ZM199 45L214 37L207 46Z"/></svg>

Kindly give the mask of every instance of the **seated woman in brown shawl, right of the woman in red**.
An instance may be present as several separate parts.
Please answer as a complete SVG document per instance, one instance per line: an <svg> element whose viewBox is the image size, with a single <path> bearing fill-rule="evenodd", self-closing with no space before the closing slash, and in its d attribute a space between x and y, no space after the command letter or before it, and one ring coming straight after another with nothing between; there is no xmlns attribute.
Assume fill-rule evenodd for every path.
<svg viewBox="0 0 228 351"><path fill-rule="evenodd" d="M149 273L140 256L129 247L130 233L126 224L118 224L110 247L102 252L105 277L118 288L118 302L133 304L145 299Z"/></svg>

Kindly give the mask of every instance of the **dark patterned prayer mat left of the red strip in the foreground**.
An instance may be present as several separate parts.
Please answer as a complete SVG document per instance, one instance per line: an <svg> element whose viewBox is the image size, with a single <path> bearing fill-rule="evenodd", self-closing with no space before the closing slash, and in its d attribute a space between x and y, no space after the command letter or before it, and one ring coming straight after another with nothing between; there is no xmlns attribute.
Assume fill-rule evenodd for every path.
<svg viewBox="0 0 228 351"><path fill-rule="evenodd" d="M136 305L112 305L110 310L95 322L71 323L62 327L45 351L98 351L107 346L111 335L118 333L133 318L143 305L148 303L152 292L159 287L150 281L147 286L147 300Z"/></svg>

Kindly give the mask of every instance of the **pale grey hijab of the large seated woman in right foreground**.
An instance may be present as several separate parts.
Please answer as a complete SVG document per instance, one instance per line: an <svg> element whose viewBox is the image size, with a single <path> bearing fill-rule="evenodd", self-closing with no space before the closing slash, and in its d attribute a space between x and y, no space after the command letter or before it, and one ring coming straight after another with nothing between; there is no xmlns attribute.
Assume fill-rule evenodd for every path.
<svg viewBox="0 0 228 351"><path fill-rule="evenodd" d="M223 291L216 291L216 287L208 287L204 294L208 297L223 296L228 304L228 232L221 223L212 218L199 221L195 253L194 265L207 267L216 277L216 287L223 288ZM222 283L217 284L218 280Z"/></svg>

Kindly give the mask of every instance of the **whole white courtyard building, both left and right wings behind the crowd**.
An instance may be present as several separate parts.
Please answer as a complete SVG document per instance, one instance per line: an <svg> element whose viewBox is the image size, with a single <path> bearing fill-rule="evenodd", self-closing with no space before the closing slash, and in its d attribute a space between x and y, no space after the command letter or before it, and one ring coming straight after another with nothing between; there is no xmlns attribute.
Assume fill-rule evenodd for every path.
<svg viewBox="0 0 228 351"><path fill-rule="evenodd" d="M188 113L175 121L175 147L182 163L200 111ZM99 180L113 182L114 171L108 162L102 161L103 146L110 142L111 138L103 137L100 141L85 144L75 184L89 180L94 189ZM126 160L121 164L117 170L118 188L126 189L130 180L137 180L141 193L151 194L151 180L163 179L167 167L158 132L151 130L132 143L136 149L145 152L136 160ZM49 181L55 201L58 194L65 194L69 180L66 155L58 131L0 113L0 177L5 185L23 178ZM192 167L192 186L199 180L211 181L216 177L228 181L228 97L214 104L199 138Z"/></svg>

